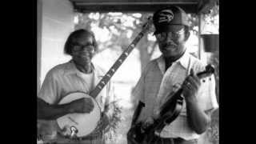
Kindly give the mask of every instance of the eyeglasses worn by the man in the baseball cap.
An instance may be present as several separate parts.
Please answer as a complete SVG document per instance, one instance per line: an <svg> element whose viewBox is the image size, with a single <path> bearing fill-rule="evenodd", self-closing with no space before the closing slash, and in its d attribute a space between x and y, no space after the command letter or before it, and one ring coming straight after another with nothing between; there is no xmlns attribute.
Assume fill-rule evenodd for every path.
<svg viewBox="0 0 256 144"><path fill-rule="evenodd" d="M176 32L169 31L169 32L162 32L159 34L155 34L156 38L158 41L162 42L166 40L166 38L170 38L172 40L177 40L178 38L182 37L182 34L184 34L185 29L178 30Z"/></svg>

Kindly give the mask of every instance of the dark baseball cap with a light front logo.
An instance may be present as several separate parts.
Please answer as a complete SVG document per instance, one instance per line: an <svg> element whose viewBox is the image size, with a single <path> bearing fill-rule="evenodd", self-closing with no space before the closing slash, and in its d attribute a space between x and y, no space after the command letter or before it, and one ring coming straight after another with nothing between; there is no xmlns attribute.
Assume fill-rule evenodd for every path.
<svg viewBox="0 0 256 144"><path fill-rule="evenodd" d="M171 25L190 26L186 12L178 6L157 10L153 15L154 34L170 30Z"/></svg>

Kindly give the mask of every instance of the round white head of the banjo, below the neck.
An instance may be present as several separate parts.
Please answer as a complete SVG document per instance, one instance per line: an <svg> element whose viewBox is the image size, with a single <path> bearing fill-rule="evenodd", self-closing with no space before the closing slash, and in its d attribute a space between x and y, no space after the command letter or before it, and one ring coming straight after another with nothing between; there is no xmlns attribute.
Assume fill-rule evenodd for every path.
<svg viewBox="0 0 256 144"><path fill-rule="evenodd" d="M94 98L82 92L75 92L75 93L66 95L65 98L62 98L59 104L72 102L78 98L91 98L92 101L94 102L94 109L90 111L90 113L86 113L86 114L78 114L78 113L66 114L58 118L57 123L58 123L58 126L61 128L61 130L64 127L66 127L71 132L72 128L75 128L77 130L76 135L78 137L85 137L96 128L98 121L100 120L101 110Z"/></svg>

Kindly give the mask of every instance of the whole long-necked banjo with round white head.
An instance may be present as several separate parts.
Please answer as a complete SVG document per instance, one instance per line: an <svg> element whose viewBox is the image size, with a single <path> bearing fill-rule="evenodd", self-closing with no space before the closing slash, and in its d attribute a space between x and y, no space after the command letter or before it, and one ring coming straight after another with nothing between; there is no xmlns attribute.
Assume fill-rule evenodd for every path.
<svg viewBox="0 0 256 144"><path fill-rule="evenodd" d="M82 92L74 92L66 95L66 97L62 98L59 104L65 104L68 102L72 102L78 98L90 98L94 103L94 109L90 113L86 114L66 114L57 119L58 126L61 130L67 129L70 130L69 138L84 138L90 135L96 126L98 126L98 122L101 117L101 110L98 106L98 103L94 98L99 94L99 92L106 86L107 82L110 81L110 78L114 75L116 70L118 70L119 66L122 65L122 62L127 58L134 47L139 42L139 40L143 37L146 32L150 30L152 25L152 17L150 16L147 22L143 25L142 31L134 38L134 41L130 43L130 45L122 52L120 57L114 65L111 66L110 70L105 74L105 76L98 82L97 86L90 92L90 94L82 93Z"/></svg>

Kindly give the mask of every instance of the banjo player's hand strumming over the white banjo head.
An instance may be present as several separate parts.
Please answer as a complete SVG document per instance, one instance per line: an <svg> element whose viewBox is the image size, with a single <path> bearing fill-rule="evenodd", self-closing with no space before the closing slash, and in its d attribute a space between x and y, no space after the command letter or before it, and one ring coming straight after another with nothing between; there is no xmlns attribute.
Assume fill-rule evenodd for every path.
<svg viewBox="0 0 256 144"><path fill-rule="evenodd" d="M70 113L90 113L94 109L94 103L90 98L79 98L70 102Z"/></svg>

